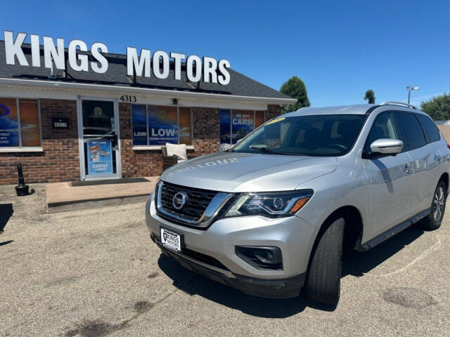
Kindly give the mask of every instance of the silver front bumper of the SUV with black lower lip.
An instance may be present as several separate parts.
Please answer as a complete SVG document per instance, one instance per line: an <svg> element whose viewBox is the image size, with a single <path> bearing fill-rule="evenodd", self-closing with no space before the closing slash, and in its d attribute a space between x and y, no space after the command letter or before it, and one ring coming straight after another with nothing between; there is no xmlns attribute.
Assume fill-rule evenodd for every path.
<svg viewBox="0 0 450 337"><path fill-rule="evenodd" d="M207 230L199 230L158 216L151 197L146 204L146 225L162 251L184 267L245 293L271 298L300 293L317 230L297 216L226 218L215 221ZM161 226L183 234L186 254L161 246ZM236 256L235 246L276 246L283 255L283 270L259 270ZM192 252L212 258L212 262L197 258Z"/></svg>

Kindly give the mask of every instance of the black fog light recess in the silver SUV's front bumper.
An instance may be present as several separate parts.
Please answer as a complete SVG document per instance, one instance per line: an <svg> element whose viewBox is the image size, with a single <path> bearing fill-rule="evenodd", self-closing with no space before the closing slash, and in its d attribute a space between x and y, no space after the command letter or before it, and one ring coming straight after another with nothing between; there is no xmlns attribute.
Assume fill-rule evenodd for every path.
<svg viewBox="0 0 450 337"><path fill-rule="evenodd" d="M281 249L266 246L235 246L239 258L259 270L283 270Z"/></svg>

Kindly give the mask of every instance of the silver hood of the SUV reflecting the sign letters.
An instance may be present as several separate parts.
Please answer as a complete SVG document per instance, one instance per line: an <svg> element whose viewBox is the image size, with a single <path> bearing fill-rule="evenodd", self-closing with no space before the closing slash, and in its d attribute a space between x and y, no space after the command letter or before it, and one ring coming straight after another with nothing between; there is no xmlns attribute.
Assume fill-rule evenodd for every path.
<svg viewBox="0 0 450 337"><path fill-rule="evenodd" d="M218 152L176 164L161 179L221 192L288 191L337 165L335 157Z"/></svg>

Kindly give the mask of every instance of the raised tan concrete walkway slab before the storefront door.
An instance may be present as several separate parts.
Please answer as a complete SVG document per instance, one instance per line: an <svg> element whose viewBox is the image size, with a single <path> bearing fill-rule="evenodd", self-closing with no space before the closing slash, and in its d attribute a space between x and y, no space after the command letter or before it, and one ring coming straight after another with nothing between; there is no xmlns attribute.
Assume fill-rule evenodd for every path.
<svg viewBox="0 0 450 337"><path fill-rule="evenodd" d="M49 183L46 203L49 212L86 209L111 204L145 201L155 189L158 176L145 177L142 183L72 186L72 183Z"/></svg>

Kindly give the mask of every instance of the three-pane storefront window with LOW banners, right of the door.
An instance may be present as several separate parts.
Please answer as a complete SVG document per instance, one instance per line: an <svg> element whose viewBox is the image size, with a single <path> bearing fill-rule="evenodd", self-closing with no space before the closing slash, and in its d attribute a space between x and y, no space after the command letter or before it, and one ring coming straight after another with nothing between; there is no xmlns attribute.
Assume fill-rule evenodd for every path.
<svg viewBox="0 0 450 337"><path fill-rule="evenodd" d="M131 105L133 145L192 144L190 107Z"/></svg>

